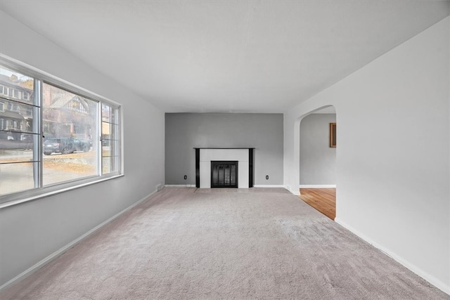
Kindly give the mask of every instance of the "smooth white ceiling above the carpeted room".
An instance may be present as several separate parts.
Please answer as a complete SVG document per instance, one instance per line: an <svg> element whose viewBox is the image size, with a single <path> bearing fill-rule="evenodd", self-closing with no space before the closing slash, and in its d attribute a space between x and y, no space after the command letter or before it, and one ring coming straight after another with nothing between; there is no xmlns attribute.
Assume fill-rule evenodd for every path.
<svg viewBox="0 0 450 300"><path fill-rule="evenodd" d="M165 112L285 112L450 15L450 1L0 1Z"/></svg>

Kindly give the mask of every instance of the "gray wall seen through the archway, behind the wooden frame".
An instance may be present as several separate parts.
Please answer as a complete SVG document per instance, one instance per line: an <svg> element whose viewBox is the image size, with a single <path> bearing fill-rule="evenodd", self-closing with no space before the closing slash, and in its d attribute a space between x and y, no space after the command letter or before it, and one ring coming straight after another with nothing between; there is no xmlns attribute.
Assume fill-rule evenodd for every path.
<svg viewBox="0 0 450 300"><path fill-rule="evenodd" d="M330 123L336 114L311 114L300 122L300 185L336 184L336 148L330 148Z"/></svg>

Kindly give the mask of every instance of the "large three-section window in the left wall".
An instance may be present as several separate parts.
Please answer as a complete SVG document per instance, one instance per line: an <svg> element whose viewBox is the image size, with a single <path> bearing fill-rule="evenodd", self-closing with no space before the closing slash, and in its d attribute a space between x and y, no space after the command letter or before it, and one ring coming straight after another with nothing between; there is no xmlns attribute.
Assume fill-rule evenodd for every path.
<svg viewBox="0 0 450 300"><path fill-rule="evenodd" d="M119 105L7 60L0 84L0 204L121 174Z"/></svg>

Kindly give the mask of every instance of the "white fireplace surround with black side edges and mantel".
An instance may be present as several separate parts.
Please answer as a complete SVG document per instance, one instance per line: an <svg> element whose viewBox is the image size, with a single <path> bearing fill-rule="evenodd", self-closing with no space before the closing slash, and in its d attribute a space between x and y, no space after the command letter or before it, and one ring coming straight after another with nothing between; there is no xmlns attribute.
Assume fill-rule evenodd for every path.
<svg viewBox="0 0 450 300"><path fill-rule="evenodd" d="M252 188L255 148L194 148L197 188ZM214 186L212 162L236 162L236 184ZM223 170L225 171L225 169ZM228 171L231 171L228 170ZM224 174L225 176L225 174ZM219 177L217 178L219 179Z"/></svg>

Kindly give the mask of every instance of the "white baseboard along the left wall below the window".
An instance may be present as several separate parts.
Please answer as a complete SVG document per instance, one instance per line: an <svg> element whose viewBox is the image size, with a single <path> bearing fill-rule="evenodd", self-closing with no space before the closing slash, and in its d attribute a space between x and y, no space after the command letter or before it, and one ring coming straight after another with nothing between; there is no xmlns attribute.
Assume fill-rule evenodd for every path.
<svg viewBox="0 0 450 300"><path fill-rule="evenodd" d="M66 244L64 247L56 250L56 252L53 252L52 254L50 254L49 256L47 256L46 258L42 259L41 261L39 261L38 263L36 263L34 266L28 268L27 270L23 271L22 273L20 273L19 275L15 276L15 278L9 280L8 282L6 282L4 285L0 286L0 292L2 292L4 289L6 289L7 287L10 287L11 285L15 284L16 282L19 282L20 280L23 280L25 278L27 278L28 276L32 275L32 273L36 272L37 270L39 270L39 268L42 268L43 266L45 266L47 263L53 261L53 259L58 258L58 256L60 256L61 254L63 254L64 252L68 251L68 249L74 247L76 244L78 244L79 242L82 242L82 240L84 240L86 237L89 237L89 235L95 233L97 230L101 229L103 226L105 226L106 224L114 221L115 219L117 219L119 216L121 216L122 214L124 214L125 212L129 211L130 209L132 209L133 207L136 207L136 205L140 204L141 202L148 200L150 197L152 197L153 195L155 195L155 193L157 193L157 191L155 190L154 192L150 193L149 195L147 195L146 197L143 197L141 200L138 200L137 202L134 202L134 204L131 204L129 207L127 207L126 209L123 209L122 211L118 212L117 214L115 214L114 216L110 217L110 219L104 221L103 223L99 224L98 226L92 228L91 230L89 230L87 233L84 233L84 235L78 237L77 239L73 240L72 242Z"/></svg>

